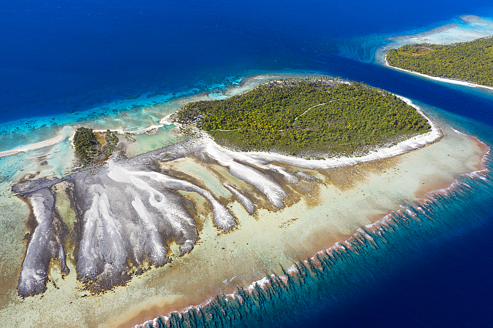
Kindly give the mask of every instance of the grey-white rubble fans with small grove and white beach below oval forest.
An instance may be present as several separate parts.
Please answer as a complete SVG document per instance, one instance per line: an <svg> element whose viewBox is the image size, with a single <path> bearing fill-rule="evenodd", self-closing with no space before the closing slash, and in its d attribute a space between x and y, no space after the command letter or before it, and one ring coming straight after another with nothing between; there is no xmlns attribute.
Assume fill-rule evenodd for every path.
<svg viewBox="0 0 493 328"><path fill-rule="evenodd" d="M377 97L381 96L377 94ZM28 180L12 187L18 197L31 205L37 223L28 232L18 294L26 297L46 290L51 259L60 262L62 273L69 273L64 246L71 248L77 279L93 293L123 285L150 266L171 262L168 253L172 242L178 245L179 256L190 252L199 237L199 203L180 192L203 197L208 204L202 211L212 212L214 227L222 232L230 231L237 225L226 207L231 198L236 198L249 215L256 208L279 210L286 204L299 202L314 188L310 185L319 180L286 165L322 169L362 163L417 149L441 138L440 129L422 112L416 112L419 108L395 96L391 99L408 106L430 131L389 147L390 152L385 149L359 158L312 161L265 152L231 151L217 145L205 132L197 132L198 137L190 138L188 143L129 160L121 150L116 151L118 138L109 130L102 146L91 129L77 129L73 144L80 161L86 165L84 169L62 179ZM111 152L112 156L105 162L103 158L108 158ZM205 179L197 177L199 172L188 173L185 167L174 170L169 166L190 157L206 168L209 165L220 167L211 168L216 171L226 168L240 183L223 175L222 188L219 187L214 197L204 184ZM280 165L274 164L275 161ZM226 196L223 189L233 197ZM55 206L58 194L68 198L73 222L60 216Z"/></svg>

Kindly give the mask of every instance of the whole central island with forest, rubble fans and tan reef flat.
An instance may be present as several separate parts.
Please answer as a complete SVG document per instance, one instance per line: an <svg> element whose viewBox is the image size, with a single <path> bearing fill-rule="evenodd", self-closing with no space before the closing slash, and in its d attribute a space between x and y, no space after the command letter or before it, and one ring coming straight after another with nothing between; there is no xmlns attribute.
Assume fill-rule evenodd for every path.
<svg viewBox="0 0 493 328"><path fill-rule="evenodd" d="M349 250L383 247L383 230L409 222L389 213L482 171L488 151L357 82L284 79L204 98L167 118L174 144L130 156L160 127L75 127L72 171L26 172L11 187L26 212L12 311L57 304L64 324L86 327L193 326L229 305L246 318L248 304L325 277Z"/></svg>

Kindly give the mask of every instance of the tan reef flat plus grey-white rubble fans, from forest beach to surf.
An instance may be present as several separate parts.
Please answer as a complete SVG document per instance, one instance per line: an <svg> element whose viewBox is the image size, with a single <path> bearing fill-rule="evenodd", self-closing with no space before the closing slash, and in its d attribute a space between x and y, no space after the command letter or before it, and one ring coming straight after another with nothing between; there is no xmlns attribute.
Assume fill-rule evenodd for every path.
<svg viewBox="0 0 493 328"><path fill-rule="evenodd" d="M32 226L30 233L45 237L27 239L18 293L45 291L11 298L2 315L36 304L19 322L129 327L282 274L281 266L481 169L484 146L441 129L439 142L417 151L410 150L429 139L396 145L408 152L389 158L391 147L359 164L364 159L233 152L204 135L66 177L20 182L13 191L31 204L31 220L46 223ZM44 259L40 265L30 249ZM63 311L38 316L48 304Z"/></svg>

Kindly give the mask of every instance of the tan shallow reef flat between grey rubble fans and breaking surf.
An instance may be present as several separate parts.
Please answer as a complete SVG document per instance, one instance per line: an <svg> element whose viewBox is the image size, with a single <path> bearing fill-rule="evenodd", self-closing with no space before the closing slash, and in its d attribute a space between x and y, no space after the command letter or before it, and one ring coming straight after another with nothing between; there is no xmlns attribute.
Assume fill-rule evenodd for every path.
<svg viewBox="0 0 493 328"><path fill-rule="evenodd" d="M244 190L242 186L246 185L231 176L228 167L221 165L221 168L218 164L204 166L193 157L163 162L166 169L200 177L203 188L210 190L215 197L225 197L238 218L239 229L218 234L211 218L204 218L201 237L193 252L183 257L175 254L172 264L144 272L126 286L104 295L86 296L74 289L77 283L72 274L75 272L73 265L70 266L72 273L65 279L54 268L51 277L56 281L56 287L48 284L48 291L42 296L26 301L13 295L13 299L9 298L12 305L3 313L20 313L33 302L39 306L39 311L47 313L51 313L47 306L67 304L63 317L84 322L86 327L133 327L159 314L200 304L221 291L234 293L236 285L246 288L251 282L262 280L265 272L282 275L279 264L288 268L299 259L313 257L319 250L350 238L359 227L375 223L391 211L398 210L403 199L405 204L405 199L416 198L416 191L443 188L459 174L476 171L484 152L475 146L475 139L442 126L439 121L437 124L443 129L444 139L419 152L318 171L285 165L288 170L304 171L320 178L322 183L315 187L314 182L302 182L302 188L312 185L311 188L315 189L305 193L299 203L275 211L260 208L254 216L247 215L242 204L229 192L218 191L214 187L227 183ZM319 164L320 161L316 162ZM280 166L273 165L264 171L265 166L263 163L259 169L270 171L277 179L284 178L283 170L272 171L281 169ZM197 170L200 170L199 175L194 173ZM197 205L201 211L206 208L202 201ZM196 292L191 294L190 290ZM105 304L103 307L98 307L100 301ZM86 315L87 312L80 311L82 308L92 314ZM57 320L65 322L62 317L57 317ZM32 322L48 326L53 319L32 317Z"/></svg>

